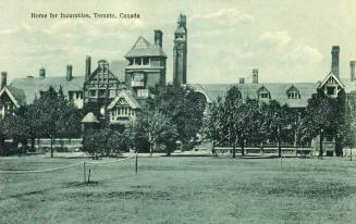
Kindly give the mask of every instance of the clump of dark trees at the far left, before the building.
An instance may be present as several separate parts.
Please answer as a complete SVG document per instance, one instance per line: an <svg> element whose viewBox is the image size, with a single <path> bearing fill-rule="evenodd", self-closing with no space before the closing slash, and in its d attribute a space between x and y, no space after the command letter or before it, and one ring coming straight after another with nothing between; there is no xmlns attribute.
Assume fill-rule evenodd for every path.
<svg viewBox="0 0 356 224"><path fill-rule="evenodd" d="M13 147L16 148L19 142L27 146L29 139L29 150L35 151L36 138L50 138L53 157L56 138L81 135L81 111L65 99L62 88L56 91L50 87L40 92L33 104L21 107L14 114L9 114L1 121L1 141L4 145L5 138L13 139Z"/></svg>

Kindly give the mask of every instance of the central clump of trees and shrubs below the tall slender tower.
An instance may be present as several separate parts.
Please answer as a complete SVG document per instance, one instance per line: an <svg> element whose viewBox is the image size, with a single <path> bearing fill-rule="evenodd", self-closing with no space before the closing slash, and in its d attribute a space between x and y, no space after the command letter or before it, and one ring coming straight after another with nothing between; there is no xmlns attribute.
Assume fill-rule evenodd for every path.
<svg viewBox="0 0 356 224"><path fill-rule="evenodd" d="M197 141L202 125L206 102L188 87L168 85L151 89L149 98L137 120L122 125L109 123L84 133L84 150L93 154L157 147L168 155L177 147L191 149Z"/></svg>

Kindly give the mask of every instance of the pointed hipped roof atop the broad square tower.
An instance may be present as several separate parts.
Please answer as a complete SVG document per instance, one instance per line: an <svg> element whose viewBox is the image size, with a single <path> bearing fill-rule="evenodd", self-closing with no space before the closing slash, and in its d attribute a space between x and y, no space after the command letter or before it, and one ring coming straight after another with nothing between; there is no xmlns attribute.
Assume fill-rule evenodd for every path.
<svg viewBox="0 0 356 224"><path fill-rule="evenodd" d="M167 58L162 48L158 45L151 45L147 39L139 36L125 58L134 57L163 57Z"/></svg>

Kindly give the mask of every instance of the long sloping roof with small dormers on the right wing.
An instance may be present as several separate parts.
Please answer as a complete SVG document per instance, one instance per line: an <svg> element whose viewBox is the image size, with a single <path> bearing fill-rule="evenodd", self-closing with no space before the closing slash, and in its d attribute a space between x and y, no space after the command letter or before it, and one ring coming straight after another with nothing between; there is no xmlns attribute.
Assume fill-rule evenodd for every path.
<svg viewBox="0 0 356 224"><path fill-rule="evenodd" d="M285 94L291 86L299 90L299 99L289 99ZM193 85L194 86L194 85ZM232 86L237 86L243 99L258 98L258 89L262 86L270 92L271 99L279 101L282 104L289 104L291 108L304 108L308 104L308 99L312 94L317 92L317 83L265 83L265 84L199 84L211 99L216 100L218 97L224 98L226 91Z"/></svg>

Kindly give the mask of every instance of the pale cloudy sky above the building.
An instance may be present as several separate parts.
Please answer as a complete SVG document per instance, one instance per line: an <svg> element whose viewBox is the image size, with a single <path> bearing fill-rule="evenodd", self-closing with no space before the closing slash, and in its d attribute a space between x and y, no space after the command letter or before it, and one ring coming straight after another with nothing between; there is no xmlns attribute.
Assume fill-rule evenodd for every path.
<svg viewBox="0 0 356 224"><path fill-rule="evenodd" d="M32 18L30 13L138 13L139 18ZM340 46L341 77L356 60L354 0L1 0L0 71L9 79L84 74L100 59L123 60L142 35L154 42L163 32L167 79L172 80L173 36L179 14L187 16L188 83L237 83L259 70L265 83L316 83L331 69ZM110 65L109 65L110 66Z"/></svg>

